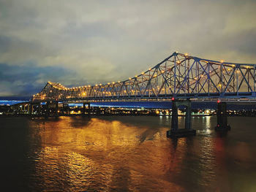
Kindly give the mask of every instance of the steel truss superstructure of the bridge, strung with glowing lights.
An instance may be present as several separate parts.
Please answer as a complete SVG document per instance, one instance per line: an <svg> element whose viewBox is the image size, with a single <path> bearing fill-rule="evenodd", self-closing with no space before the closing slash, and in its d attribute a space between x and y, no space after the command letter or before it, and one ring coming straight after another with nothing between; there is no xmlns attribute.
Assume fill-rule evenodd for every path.
<svg viewBox="0 0 256 192"><path fill-rule="evenodd" d="M173 53L128 80L66 88L48 82L32 101L165 101L175 99L255 99L256 64L211 61Z"/></svg>

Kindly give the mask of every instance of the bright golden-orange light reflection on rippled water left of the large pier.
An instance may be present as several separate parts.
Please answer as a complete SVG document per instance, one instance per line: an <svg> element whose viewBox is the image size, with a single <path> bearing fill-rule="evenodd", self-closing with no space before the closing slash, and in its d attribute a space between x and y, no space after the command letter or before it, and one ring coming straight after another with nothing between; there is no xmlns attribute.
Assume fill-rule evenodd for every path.
<svg viewBox="0 0 256 192"><path fill-rule="evenodd" d="M66 186L67 191L143 191L149 184L152 191L182 189L164 174L166 169L172 171L172 166L178 169L183 158L170 157L170 145L163 145L167 128L155 131L156 128L138 128L119 120L67 117L34 120L31 126L39 128L42 149L36 167L47 190ZM183 139L177 145L184 151ZM173 160L162 164L170 158Z"/></svg>

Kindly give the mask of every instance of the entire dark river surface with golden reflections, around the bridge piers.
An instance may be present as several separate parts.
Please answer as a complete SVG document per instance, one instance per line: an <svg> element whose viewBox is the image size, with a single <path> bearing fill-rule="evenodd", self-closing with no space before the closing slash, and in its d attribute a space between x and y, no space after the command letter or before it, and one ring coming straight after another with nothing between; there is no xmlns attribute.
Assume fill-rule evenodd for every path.
<svg viewBox="0 0 256 192"><path fill-rule="evenodd" d="M195 137L168 139L170 117L0 118L7 191L256 191L256 118L193 117ZM184 118L179 117L184 126Z"/></svg>

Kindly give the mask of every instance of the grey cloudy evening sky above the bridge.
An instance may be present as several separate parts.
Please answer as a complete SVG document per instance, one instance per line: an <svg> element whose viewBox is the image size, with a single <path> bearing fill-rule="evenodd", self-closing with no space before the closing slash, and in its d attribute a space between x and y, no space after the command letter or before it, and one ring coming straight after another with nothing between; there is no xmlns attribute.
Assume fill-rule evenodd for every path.
<svg viewBox="0 0 256 192"><path fill-rule="evenodd" d="M256 64L255 0L0 0L0 96L125 80L178 50Z"/></svg>

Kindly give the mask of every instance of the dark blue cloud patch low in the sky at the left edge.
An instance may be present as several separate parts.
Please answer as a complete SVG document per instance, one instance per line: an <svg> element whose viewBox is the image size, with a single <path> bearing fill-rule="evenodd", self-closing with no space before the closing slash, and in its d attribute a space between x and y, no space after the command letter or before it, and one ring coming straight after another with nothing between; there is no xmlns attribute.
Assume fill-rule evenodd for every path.
<svg viewBox="0 0 256 192"><path fill-rule="evenodd" d="M0 69L1 96L31 96L41 91L48 80L59 82L59 80L64 80L64 77L75 76L75 72L67 71L59 66L0 64ZM72 86L72 84L69 85Z"/></svg>

